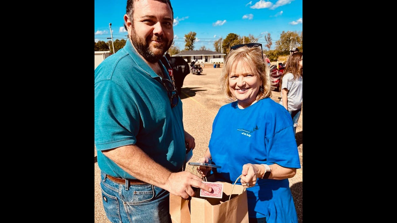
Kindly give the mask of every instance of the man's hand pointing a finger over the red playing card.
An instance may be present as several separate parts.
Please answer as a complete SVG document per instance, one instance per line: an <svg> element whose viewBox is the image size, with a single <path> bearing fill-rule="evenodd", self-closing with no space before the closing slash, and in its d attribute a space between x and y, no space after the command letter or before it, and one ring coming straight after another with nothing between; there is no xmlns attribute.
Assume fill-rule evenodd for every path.
<svg viewBox="0 0 397 223"><path fill-rule="evenodd" d="M189 196L195 196L192 186L212 192L212 188L201 181L202 179L200 177L187 171L171 173L166 182L165 189L171 194L181 196L184 199L189 198Z"/></svg>

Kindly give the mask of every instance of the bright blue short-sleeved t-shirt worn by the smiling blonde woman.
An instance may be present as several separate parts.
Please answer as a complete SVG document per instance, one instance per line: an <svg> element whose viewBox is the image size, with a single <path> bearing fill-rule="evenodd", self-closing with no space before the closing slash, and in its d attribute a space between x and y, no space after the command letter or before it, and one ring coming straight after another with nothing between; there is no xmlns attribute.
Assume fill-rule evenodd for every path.
<svg viewBox="0 0 397 223"><path fill-rule="evenodd" d="M245 109L239 109L237 101L222 106L208 147L212 161L222 166L213 169L216 181L234 183L246 163L301 168L291 115L271 98ZM258 179L247 188L247 197L249 217L298 222L288 179Z"/></svg>

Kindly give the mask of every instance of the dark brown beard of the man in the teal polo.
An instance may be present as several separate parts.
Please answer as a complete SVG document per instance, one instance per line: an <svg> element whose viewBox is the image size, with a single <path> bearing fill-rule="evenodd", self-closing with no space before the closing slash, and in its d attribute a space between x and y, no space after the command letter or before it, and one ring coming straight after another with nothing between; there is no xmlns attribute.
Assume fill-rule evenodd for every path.
<svg viewBox="0 0 397 223"><path fill-rule="evenodd" d="M135 30L132 30L132 34L130 36L132 44L137 49L137 52L145 58L148 62L155 63L160 60L160 58L164 55L165 52L171 47L172 41L168 40L166 37L159 37L156 35L151 35L146 37L146 39L140 38L136 35ZM162 48L162 44L154 44L154 50L150 50L149 43L151 40L161 40L164 41L166 45Z"/></svg>

